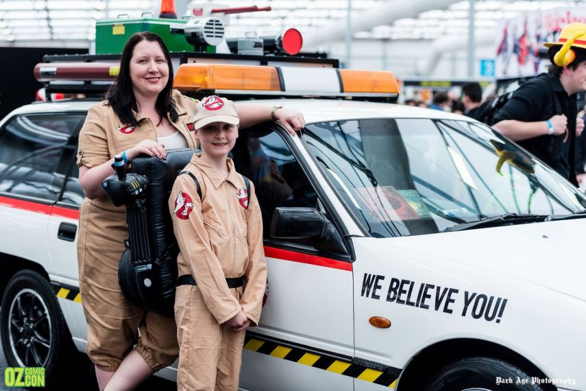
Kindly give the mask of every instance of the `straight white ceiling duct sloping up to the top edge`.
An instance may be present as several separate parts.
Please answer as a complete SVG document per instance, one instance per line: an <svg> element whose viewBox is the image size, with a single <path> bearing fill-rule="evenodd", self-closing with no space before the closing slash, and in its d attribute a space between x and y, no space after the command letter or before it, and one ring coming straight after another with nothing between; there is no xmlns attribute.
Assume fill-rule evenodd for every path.
<svg viewBox="0 0 586 391"><path fill-rule="evenodd" d="M417 18L419 14L429 10L445 10L449 5L459 1L461 0L392 0L380 7L354 11L352 32L370 31L372 27L392 25L398 19ZM344 40L346 33L344 24L339 20L334 21L304 37L304 49Z"/></svg>

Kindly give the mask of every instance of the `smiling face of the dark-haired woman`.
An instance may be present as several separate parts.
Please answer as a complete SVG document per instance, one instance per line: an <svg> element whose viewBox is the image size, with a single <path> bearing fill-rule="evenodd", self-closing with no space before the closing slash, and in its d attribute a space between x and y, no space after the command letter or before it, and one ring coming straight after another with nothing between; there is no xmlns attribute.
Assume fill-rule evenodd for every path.
<svg viewBox="0 0 586 391"><path fill-rule="evenodd" d="M169 80L169 64L157 42L141 40L130 58L130 79L134 96L156 97Z"/></svg>

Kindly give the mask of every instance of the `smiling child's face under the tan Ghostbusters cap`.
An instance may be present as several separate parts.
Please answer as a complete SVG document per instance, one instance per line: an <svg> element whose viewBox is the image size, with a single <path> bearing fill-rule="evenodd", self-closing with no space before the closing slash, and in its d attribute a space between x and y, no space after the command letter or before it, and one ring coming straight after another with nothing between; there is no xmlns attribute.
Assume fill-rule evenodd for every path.
<svg viewBox="0 0 586 391"><path fill-rule="evenodd" d="M238 126L226 122L212 122L195 130L199 147L208 156L219 158L228 156L238 138Z"/></svg>

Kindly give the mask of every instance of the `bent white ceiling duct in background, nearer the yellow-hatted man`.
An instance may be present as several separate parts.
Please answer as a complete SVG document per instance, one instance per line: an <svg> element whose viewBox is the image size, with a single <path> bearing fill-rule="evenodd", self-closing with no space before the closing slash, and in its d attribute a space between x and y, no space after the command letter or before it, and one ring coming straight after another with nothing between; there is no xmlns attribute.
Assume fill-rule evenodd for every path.
<svg viewBox="0 0 586 391"><path fill-rule="evenodd" d="M493 33L491 29L475 29L474 46L493 45L495 40ZM437 38L437 40L434 40L429 45L428 57L417 63L417 75L430 75L439 63L439 60L441 60L441 56L453 53L454 51L465 50L467 45L468 36L466 34L454 34ZM474 61L474 59L472 60Z"/></svg>

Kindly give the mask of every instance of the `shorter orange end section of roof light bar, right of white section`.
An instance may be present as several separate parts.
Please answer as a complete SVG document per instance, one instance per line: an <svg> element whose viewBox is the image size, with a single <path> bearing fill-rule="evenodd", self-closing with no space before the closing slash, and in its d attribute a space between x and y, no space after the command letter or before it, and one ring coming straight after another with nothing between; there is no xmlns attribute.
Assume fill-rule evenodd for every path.
<svg viewBox="0 0 586 391"><path fill-rule="evenodd" d="M345 93L399 93L399 84L390 71L340 69Z"/></svg>

